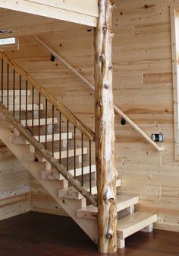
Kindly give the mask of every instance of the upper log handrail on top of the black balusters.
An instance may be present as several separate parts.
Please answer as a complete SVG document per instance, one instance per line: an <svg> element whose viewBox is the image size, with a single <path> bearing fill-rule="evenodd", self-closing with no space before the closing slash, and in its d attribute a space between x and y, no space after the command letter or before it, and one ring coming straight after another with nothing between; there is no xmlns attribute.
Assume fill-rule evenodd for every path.
<svg viewBox="0 0 179 256"><path fill-rule="evenodd" d="M0 51L0 55L3 59L5 59L14 69L17 70L31 85L39 91L44 98L46 98L56 109L58 109L61 114L64 115L74 126L77 127L78 130L81 131L88 139L95 140L95 133L89 127L87 127L79 118L77 118L68 107L65 107L64 104L61 104L46 88L43 88L42 85L39 84L32 76L30 76L24 69L20 68L16 62L8 57L5 52Z"/></svg>

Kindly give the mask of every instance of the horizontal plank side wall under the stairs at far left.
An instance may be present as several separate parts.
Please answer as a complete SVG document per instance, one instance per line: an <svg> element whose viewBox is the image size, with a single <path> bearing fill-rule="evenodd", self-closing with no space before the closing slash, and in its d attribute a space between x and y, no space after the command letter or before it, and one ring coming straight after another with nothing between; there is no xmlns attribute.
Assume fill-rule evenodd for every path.
<svg viewBox="0 0 179 256"><path fill-rule="evenodd" d="M30 174L5 146L0 149L0 219L30 211Z"/></svg>

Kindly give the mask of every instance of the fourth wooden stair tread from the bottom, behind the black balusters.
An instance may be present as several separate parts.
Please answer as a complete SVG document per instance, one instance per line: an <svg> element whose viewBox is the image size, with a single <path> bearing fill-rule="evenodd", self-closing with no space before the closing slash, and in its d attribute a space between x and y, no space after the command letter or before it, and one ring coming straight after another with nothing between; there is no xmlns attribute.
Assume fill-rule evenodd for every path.
<svg viewBox="0 0 179 256"><path fill-rule="evenodd" d="M96 171L96 165L91 166L91 172ZM71 173L74 176L74 168L69 170L69 173ZM83 166L83 174L89 174L89 165ZM76 177L81 175L81 168L76 168ZM41 178L49 179L49 180L58 180L62 181L64 180L64 177L56 170L52 171L41 171Z"/></svg>

